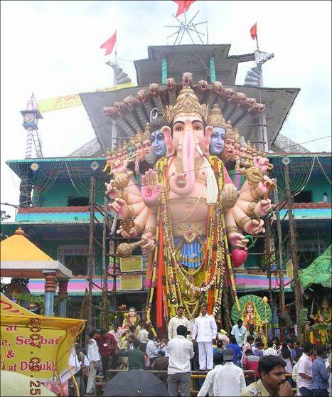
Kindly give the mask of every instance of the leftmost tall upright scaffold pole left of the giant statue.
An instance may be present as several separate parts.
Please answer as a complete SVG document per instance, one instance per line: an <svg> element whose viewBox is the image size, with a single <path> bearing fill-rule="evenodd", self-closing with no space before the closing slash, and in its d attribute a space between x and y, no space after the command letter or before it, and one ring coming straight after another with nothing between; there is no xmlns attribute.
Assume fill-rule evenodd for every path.
<svg viewBox="0 0 332 397"><path fill-rule="evenodd" d="M93 232L95 228L95 178L90 179L90 228L89 228L89 267L87 270L87 280L89 282L89 292L87 294L87 329L92 329L92 277L94 268L94 249L93 249Z"/></svg>

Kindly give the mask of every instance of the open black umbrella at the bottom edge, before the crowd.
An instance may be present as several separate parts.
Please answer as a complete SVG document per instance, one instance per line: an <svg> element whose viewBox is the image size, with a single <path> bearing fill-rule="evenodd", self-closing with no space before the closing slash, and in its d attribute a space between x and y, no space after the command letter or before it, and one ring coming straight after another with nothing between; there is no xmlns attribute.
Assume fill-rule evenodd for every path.
<svg viewBox="0 0 332 397"><path fill-rule="evenodd" d="M104 397L168 396L166 385L151 372L131 369L120 372L105 386Z"/></svg>

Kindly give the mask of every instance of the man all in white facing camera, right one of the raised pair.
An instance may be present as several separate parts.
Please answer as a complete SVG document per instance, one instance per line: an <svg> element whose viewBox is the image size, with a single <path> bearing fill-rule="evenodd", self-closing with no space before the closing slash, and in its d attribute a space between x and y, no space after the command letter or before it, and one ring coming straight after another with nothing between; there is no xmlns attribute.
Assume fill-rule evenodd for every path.
<svg viewBox="0 0 332 397"><path fill-rule="evenodd" d="M208 314L207 307L202 305L202 313L193 324L193 342L198 343L198 359L200 370L213 369L213 346L212 341L217 336L217 324L215 319Z"/></svg>

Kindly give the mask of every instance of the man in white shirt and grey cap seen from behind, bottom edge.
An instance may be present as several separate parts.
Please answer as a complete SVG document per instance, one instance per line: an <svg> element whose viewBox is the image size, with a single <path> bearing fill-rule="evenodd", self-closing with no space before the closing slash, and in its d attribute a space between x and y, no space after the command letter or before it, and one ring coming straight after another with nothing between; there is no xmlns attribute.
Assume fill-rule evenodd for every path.
<svg viewBox="0 0 332 397"><path fill-rule="evenodd" d="M245 388L245 374L233 363L234 350L227 348L224 353L225 364L215 371L213 383L214 396L240 396Z"/></svg>

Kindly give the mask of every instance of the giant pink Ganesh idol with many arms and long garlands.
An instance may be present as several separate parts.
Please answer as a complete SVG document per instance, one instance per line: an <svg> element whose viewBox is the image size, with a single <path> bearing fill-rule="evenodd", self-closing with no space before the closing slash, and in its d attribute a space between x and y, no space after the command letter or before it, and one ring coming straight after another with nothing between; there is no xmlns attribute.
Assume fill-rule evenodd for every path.
<svg viewBox="0 0 332 397"><path fill-rule="evenodd" d="M178 305L193 319L203 302L215 315L229 288L224 280L240 313L230 246L245 252L245 235L264 233L261 218L273 207L267 198L271 180L259 162L251 162L238 194L218 157L227 134L235 131L218 103L208 112L189 85L183 85L173 105L164 106L163 117L151 121L150 133L156 163L141 176L140 192L130 177L122 178L121 189L107 186L115 198L109 208L121 221L117 233L141 235L134 245L149 253L146 317L160 329ZM130 255L129 245L120 246L119 255Z"/></svg>

